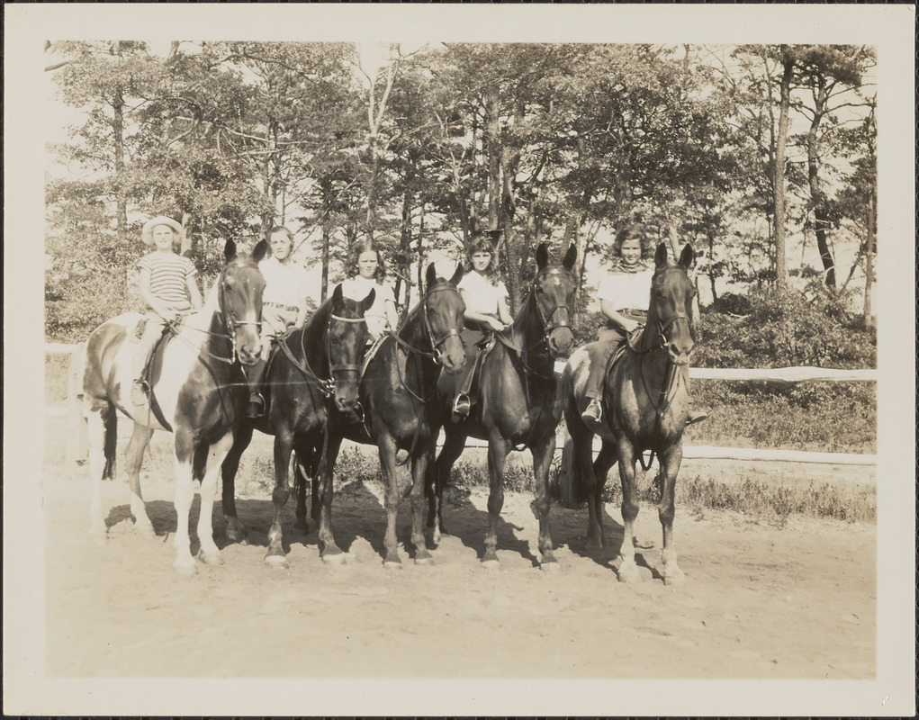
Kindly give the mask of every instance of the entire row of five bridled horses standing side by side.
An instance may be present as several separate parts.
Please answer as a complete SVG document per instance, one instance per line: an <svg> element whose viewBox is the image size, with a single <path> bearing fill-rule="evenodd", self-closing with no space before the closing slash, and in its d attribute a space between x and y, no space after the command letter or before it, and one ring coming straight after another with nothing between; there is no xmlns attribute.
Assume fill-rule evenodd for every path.
<svg viewBox="0 0 919 720"><path fill-rule="evenodd" d="M264 252L264 243L251 255L237 253L233 242L227 243L226 265L205 307L154 354L149 407L133 406L129 397L134 347L129 341L138 316L121 315L90 335L85 346L84 402L93 487L91 530L96 536L107 534L101 481L114 474L119 412L134 422L126 459L130 511L142 533L153 534L140 483L143 452L154 430L174 435L174 566L182 574L192 574L197 567L188 535L194 478L200 480L201 498L198 560L222 562L211 526L221 471L227 535L231 540L244 540L245 529L236 514L234 480L240 456L256 429L274 436L274 518L265 560L279 567L288 565L282 521L291 491L292 454L299 478L295 527L306 531L306 486L312 480L312 518L318 522L320 553L323 560L335 562L345 557L335 544L332 523L339 448L344 439L378 446L386 485L383 562L387 567L400 567L397 452L406 452L411 464L411 552L416 563L429 564L434 559L429 546L437 546L446 532L443 496L450 470L472 436L488 442L488 529L482 564L498 565L505 461L512 449L526 447L533 457L536 481L532 509L539 520L540 567L557 568L550 535L549 476L555 430L564 414L574 443L575 478L588 499L588 547L606 543L601 494L607 471L618 460L626 538L618 578L638 578L632 531L638 513L634 465L641 452L652 450L661 459L663 475L659 504L664 529L662 574L667 582L682 579L676 564L673 519L688 401L679 369L688 363L693 347L694 289L686 274L692 262L688 245L676 262L668 260L663 244L657 250L648 325L641 345L630 347L607 373L603 400L607 421L599 430L585 425L579 411L588 369L586 351L581 348L571 354L576 250L569 247L561 264L550 264L546 244L536 253L537 272L522 309L509 328L497 333L497 342L482 362L478 401L467 418L450 422L459 377L471 363L460 337L464 304L457 283L462 268L446 279L437 276L434 264L428 266L422 297L402 328L387 335L364 362L368 332L363 317L373 296L358 302L344 298L341 287L336 287L310 321L285 336L283 352L274 355L266 375L266 414L257 420L245 418L244 366L252 365L261 349L259 321L265 283L257 262ZM559 378L555 361L568 354L571 357ZM441 429L446 441L436 457ZM602 440L596 461L592 452L595 431Z"/></svg>

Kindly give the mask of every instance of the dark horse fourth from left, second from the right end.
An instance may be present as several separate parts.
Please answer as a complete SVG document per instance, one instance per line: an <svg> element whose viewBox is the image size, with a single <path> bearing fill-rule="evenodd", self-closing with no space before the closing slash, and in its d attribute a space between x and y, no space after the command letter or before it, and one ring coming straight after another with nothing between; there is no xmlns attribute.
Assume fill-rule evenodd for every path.
<svg viewBox="0 0 919 720"><path fill-rule="evenodd" d="M555 358L567 354L574 341L571 321L577 282L572 268L577 250L572 245L562 265L550 265L548 247L539 245L537 273L528 298L508 330L497 333L494 349L482 360L479 401L468 418L448 422L444 447L427 478L428 528L432 540L443 532L443 491L450 468L463 451L469 435L488 441L488 533L482 564L498 567L498 520L504 505L505 460L511 449L528 447L533 455L539 519L541 567L558 567L549 532L549 467L555 450L555 428L561 407L555 407ZM472 358L468 362L471 364ZM439 383L441 411L449 413L456 397L455 377Z"/></svg>

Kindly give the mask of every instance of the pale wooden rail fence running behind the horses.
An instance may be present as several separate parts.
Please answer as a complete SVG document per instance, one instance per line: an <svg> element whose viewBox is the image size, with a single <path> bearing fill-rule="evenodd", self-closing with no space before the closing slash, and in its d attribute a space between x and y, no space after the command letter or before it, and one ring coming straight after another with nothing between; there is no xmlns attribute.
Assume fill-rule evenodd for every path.
<svg viewBox="0 0 919 720"><path fill-rule="evenodd" d="M86 423L82 407L82 375L80 358L83 343L63 344L45 343L45 354L68 354L71 361L67 372L67 401L64 408L49 407L49 415L66 418L65 459L70 465L84 460L88 452ZM825 367L777 367L772 369L757 368L720 368L690 367L689 377L700 380L771 380L779 382L876 382L878 371L836 370ZM441 433L438 444L443 443ZM484 441L469 438L467 447L487 447ZM594 450L599 450L599 440L595 439ZM562 450L562 471L559 483L562 486L562 499L571 497L571 440L567 433L556 438L556 450ZM684 445L683 456L686 459L706 460L739 460L771 461L792 463L822 463L828 465L874 466L877 456L854 453L809 453L796 450L763 450L743 447L713 447L710 445Z"/></svg>

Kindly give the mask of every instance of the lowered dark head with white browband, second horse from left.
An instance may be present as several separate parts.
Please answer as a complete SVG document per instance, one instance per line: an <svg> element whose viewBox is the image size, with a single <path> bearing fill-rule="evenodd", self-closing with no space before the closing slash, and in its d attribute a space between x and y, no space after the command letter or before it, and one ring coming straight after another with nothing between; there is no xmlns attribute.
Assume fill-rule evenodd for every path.
<svg viewBox="0 0 919 720"><path fill-rule="evenodd" d="M335 407L347 414L356 411L358 405L360 361L370 337L364 313L376 297L376 290L370 290L366 298L357 302L345 298L340 285L332 294L332 307L325 329L325 354L335 385Z"/></svg>

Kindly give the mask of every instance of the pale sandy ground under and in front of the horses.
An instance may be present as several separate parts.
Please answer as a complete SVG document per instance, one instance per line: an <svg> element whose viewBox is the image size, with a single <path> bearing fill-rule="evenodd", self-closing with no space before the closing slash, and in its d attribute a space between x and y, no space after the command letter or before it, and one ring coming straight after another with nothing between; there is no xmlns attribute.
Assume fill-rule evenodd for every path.
<svg viewBox="0 0 919 720"><path fill-rule="evenodd" d="M123 478L122 476L119 476ZM502 568L481 567L484 490L451 489L449 535L433 567L381 564L385 513L376 483L347 484L334 521L346 565L326 566L314 524L285 529L290 568L263 564L271 502L238 502L249 545L214 526L225 564L172 568L176 515L169 478L144 478L157 538L135 534L123 479L105 483L109 539L85 533L85 468L46 468L47 656L60 678L608 678L868 679L875 674L876 528L792 517L778 528L735 513L677 511L686 583L656 577L659 549L641 551L643 581L618 583L612 547L584 551L586 511L554 507L560 570L539 570L528 494L508 493ZM192 528L198 502L192 508ZM400 541L410 508L400 509ZM660 546L653 507L639 533ZM193 546L193 551L197 548Z"/></svg>

